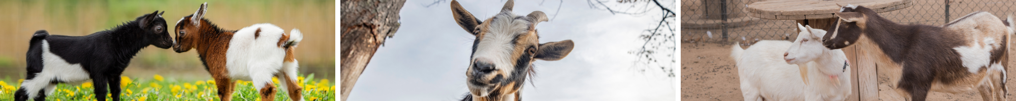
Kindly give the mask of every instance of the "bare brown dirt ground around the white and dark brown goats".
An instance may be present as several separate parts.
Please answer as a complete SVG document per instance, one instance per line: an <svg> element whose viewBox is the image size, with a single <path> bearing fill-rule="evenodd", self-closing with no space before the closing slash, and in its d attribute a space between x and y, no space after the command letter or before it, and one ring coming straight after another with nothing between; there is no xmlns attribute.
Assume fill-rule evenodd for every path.
<svg viewBox="0 0 1016 101"><path fill-rule="evenodd" d="M731 59L731 44L722 43L681 43L681 100L682 101L742 101L741 84L738 79L738 68ZM747 48L747 46L743 46ZM1010 48L1016 50L1016 48ZM1013 59L1013 56L1010 56ZM1016 61L1009 61L1009 64L1016 64ZM1012 67L1012 66L1010 66ZM1007 73L1016 72L1016 69L1008 69ZM1016 78L1016 74L1008 74L1007 81ZM879 100L901 101L895 92L889 87L888 78L885 74L879 74ZM853 81L856 82L856 81ZM1010 90L1016 87L1016 83L1006 84ZM1007 94L1007 98L1016 98L1013 92ZM847 99L854 101L855 98ZM928 96L929 101L980 101L980 95L976 91L949 94L933 92Z"/></svg>

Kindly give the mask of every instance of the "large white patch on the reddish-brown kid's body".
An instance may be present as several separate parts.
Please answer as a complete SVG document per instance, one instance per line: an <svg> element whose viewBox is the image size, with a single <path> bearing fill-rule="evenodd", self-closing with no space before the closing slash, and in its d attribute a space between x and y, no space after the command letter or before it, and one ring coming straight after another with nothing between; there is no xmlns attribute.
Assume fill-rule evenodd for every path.
<svg viewBox="0 0 1016 101"><path fill-rule="evenodd" d="M261 29L261 38L254 38L254 31ZM230 77L252 81L260 90L271 84L271 77L282 71L285 50L278 47L283 30L278 26L259 23L237 30L226 50L226 68Z"/></svg>

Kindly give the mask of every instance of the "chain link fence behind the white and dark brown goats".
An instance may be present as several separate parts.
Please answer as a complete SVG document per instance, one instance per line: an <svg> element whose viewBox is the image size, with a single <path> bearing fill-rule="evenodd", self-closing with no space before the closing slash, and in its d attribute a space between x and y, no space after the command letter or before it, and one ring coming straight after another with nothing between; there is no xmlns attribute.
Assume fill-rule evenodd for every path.
<svg viewBox="0 0 1016 101"><path fill-rule="evenodd" d="M764 0L681 0L682 42L797 38L795 20L748 16L743 9L759 1ZM1002 19L1016 15L1013 0L913 0L911 4L879 15L900 24L928 25L942 25L974 11L991 12Z"/></svg>

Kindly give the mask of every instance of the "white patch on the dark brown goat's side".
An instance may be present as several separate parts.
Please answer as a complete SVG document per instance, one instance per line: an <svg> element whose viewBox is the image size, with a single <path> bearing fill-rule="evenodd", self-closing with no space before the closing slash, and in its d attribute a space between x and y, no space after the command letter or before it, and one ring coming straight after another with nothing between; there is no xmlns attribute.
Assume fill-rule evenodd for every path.
<svg viewBox="0 0 1016 101"><path fill-rule="evenodd" d="M967 72L977 74L977 69L980 67L988 67L991 62L992 53L991 50L998 47L999 44L996 43L995 38L985 37L983 41L988 45L980 45L977 41L974 43L968 43L967 45L961 45L953 47L956 53L959 53L960 59L963 61L963 67L966 67Z"/></svg>

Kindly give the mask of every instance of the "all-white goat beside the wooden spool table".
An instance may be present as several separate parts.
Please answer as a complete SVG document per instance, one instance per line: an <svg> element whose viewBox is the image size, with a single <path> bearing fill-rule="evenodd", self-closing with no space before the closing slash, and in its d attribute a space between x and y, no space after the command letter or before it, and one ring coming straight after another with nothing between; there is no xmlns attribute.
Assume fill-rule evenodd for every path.
<svg viewBox="0 0 1016 101"><path fill-rule="evenodd" d="M745 101L842 101L851 93L843 52L822 45L825 30L798 27L796 42L761 40L748 49L734 45L731 57L738 63Z"/></svg>

